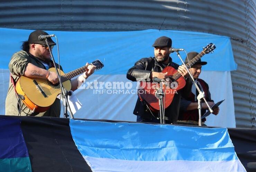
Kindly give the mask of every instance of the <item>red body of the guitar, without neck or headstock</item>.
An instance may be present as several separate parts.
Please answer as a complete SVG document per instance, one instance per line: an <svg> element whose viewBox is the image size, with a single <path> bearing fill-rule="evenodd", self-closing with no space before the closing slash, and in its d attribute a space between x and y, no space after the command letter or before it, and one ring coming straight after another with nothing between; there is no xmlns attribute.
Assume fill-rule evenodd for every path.
<svg viewBox="0 0 256 172"><path fill-rule="evenodd" d="M177 70L171 66L167 66L163 69L162 73L166 73L170 81L167 82L166 92L165 85L163 85L163 92L165 92L164 107L167 108L171 105L174 95L178 90L182 89L186 85L186 81L183 77L179 77L176 80L171 79ZM176 83L175 83L176 82ZM175 85L174 85L175 84ZM149 105L150 110L157 112L159 108L159 99L156 98L155 93L159 89L160 85L156 82L140 82L140 88L138 90L138 96L141 100L145 100Z"/></svg>

